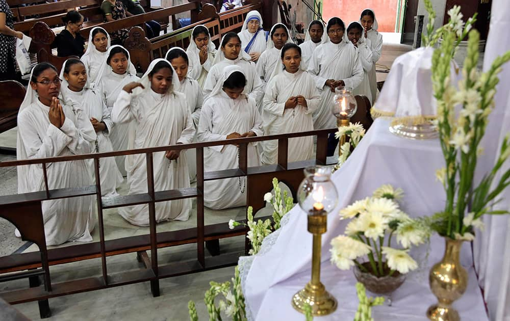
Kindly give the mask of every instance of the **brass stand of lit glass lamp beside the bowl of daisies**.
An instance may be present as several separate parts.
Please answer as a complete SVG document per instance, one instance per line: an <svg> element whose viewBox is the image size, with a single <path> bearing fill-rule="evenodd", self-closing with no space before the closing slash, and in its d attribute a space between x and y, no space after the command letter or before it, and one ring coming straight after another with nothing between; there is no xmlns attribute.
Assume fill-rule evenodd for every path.
<svg viewBox="0 0 510 321"><path fill-rule="evenodd" d="M319 203L320 204L320 203ZM312 280L292 298L294 309L304 313L303 307L312 307L315 316L327 315L337 309L337 300L331 296L320 281L321 238L326 232L326 211L320 206L315 207L308 215L308 231L314 235L312 249Z"/></svg>

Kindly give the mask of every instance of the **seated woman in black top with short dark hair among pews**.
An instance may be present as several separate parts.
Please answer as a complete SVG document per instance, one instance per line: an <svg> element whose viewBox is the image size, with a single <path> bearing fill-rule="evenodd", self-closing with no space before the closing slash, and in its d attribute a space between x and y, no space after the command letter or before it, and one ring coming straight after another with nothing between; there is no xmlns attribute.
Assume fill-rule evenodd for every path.
<svg viewBox="0 0 510 321"><path fill-rule="evenodd" d="M80 35L80 29L83 26L83 16L78 11L72 10L62 20L65 23L65 29L55 39L57 43L57 56L82 57L85 53L85 39Z"/></svg>

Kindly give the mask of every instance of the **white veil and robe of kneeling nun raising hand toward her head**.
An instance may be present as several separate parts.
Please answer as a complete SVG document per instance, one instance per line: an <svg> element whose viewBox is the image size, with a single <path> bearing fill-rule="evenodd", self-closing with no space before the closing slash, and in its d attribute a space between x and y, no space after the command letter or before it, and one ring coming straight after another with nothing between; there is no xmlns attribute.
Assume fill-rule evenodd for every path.
<svg viewBox="0 0 510 321"><path fill-rule="evenodd" d="M166 62L173 72L172 85L166 94L152 91L149 81L149 72L159 62ZM179 86L179 79L170 63L165 59L152 61L140 83L145 89L135 88L132 94L122 90L112 111L112 120L115 123L133 121L129 149L191 143L195 134L193 121L186 97L175 90ZM181 153L174 161L166 158L164 151L153 153L152 162L155 191L190 187L186 153ZM129 194L147 193L145 154L127 155L126 170ZM190 199L158 202L156 221L187 221L190 210ZM133 225L149 225L148 204L121 207L119 214Z"/></svg>

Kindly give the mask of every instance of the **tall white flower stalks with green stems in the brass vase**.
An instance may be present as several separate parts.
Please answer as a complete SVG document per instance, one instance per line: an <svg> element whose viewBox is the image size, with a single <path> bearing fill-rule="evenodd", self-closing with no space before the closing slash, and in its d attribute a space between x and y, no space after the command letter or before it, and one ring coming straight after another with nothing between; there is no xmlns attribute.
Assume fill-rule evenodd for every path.
<svg viewBox="0 0 510 321"><path fill-rule="evenodd" d="M427 8L429 15L433 14L429 3L427 6L430 7ZM454 6L448 14L449 22L436 34L428 36L433 40L440 35L443 39L432 56L432 88L437 99L437 127L446 163L436 173L446 192L445 208L432 217L432 228L442 236L472 240L474 228L483 227L482 215L507 213L491 210L491 206L510 184L510 170L495 181L510 156L508 137L503 141L491 172L478 186L474 186L473 179L477 158L483 152L478 145L494 108L495 87L499 82L497 75L502 65L510 60L510 51L496 58L487 72L479 72L476 68L479 33L470 31L475 16L464 25L460 7ZM455 83L450 78L452 59L456 46L466 35L469 39L462 80Z"/></svg>

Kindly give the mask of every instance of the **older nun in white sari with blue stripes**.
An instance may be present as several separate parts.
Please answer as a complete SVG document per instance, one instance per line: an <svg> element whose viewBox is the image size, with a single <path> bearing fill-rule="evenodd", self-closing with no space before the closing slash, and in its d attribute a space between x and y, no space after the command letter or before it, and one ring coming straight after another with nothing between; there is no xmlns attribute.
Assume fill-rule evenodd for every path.
<svg viewBox="0 0 510 321"><path fill-rule="evenodd" d="M262 16L258 11L248 12L243 28L238 35L244 52L250 55L251 61L257 62L261 53L266 50L267 40L269 39L269 32L262 28Z"/></svg>

